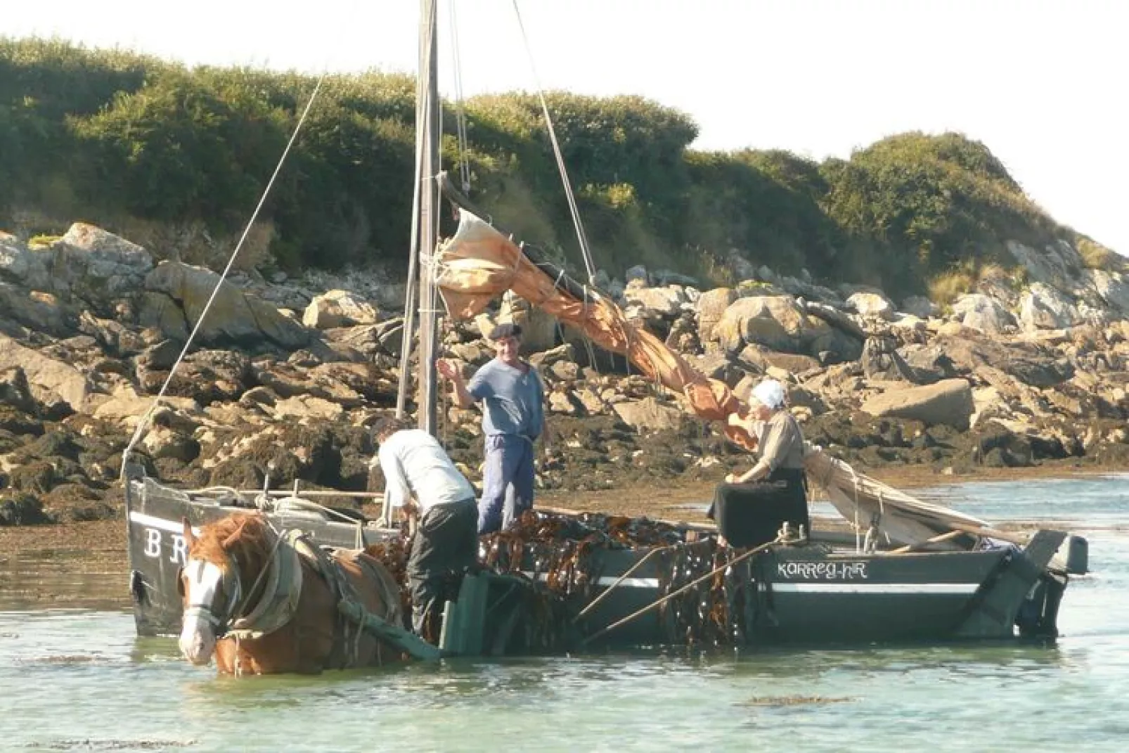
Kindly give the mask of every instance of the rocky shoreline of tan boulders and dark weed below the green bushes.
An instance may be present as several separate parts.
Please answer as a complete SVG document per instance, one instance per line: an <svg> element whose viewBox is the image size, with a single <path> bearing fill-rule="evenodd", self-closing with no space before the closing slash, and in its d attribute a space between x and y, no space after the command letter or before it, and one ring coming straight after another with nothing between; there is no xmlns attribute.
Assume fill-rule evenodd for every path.
<svg viewBox="0 0 1129 753"><path fill-rule="evenodd" d="M1084 269L1069 244L1009 247L1027 282L989 280L945 312L738 256L729 288L641 268L601 287L738 396L765 375L787 383L807 438L879 478L1129 469L1129 278ZM0 234L0 527L119 517L123 450L166 383L135 446L155 476L379 488L367 427L395 404L402 283L251 270L201 321L218 275L159 260L82 224L32 245ZM524 301L448 324L446 354L485 362L482 333L499 318L523 323L550 387L546 499L644 500L749 462L676 396ZM443 408L441 438L476 481L476 413Z"/></svg>

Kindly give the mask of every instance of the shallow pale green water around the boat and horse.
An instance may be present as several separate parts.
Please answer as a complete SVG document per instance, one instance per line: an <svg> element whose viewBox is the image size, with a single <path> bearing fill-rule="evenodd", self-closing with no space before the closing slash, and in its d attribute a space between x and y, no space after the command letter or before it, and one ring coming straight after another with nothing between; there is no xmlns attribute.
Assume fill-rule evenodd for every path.
<svg viewBox="0 0 1129 753"><path fill-rule="evenodd" d="M172 639L135 638L125 612L0 605L0 750L1129 750L1129 478L943 493L989 519L1066 520L1089 537L1095 572L1067 590L1054 646L457 660L235 681L187 666Z"/></svg>

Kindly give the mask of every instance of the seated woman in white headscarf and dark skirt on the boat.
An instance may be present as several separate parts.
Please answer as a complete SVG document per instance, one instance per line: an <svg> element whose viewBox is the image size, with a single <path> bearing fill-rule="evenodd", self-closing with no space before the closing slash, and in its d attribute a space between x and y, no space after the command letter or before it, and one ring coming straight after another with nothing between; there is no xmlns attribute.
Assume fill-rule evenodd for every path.
<svg viewBox="0 0 1129 753"><path fill-rule="evenodd" d="M784 385L765 379L753 388L750 409L730 414L729 423L744 428L758 441L758 461L745 473L730 473L719 484L710 508L723 541L755 546L776 537L789 523L794 531L811 529L807 481L804 476L804 434L788 411Z"/></svg>

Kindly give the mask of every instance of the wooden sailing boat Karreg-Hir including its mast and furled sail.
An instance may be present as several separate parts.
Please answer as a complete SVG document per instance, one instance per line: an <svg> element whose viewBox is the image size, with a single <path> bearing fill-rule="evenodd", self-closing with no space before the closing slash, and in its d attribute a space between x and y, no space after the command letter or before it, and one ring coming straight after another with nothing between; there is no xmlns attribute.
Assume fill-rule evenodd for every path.
<svg viewBox="0 0 1129 753"><path fill-rule="evenodd" d="M422 0L418 175L438 165L438 100L435 73L435 3ZM440 181L440 183L444 183ZM571 280L537 249L516 245L461 207L454 236L437 243L435 192L417 181L412 266L420 272L418 303L411 296L404 327L406 364L411 315L419 310L420 427L435 430L434 379L437 298L450 316L469 317L505 290L513 290L584 333L605 350L625 356L644 375L685 400L703 420L723 421L741 403L726 385L694 371L662 340L629 321L592 284ZM566 181L567 185L567 181ZM406 389L406 379L401 379ZM400 409L403 409L401 392ZM140 430L140 429L139 429ZM752 446L743 430L732 440ZM752 550L719 546L716 533L692 526L667 531L660 545L625 546L589 537L552 542L511 541L505 561L469 577L445 616L444 648L457 654L507 653L510 636L534 619L528 599L555 598L561 625L584 647L632 647L685 642L759 645L802 641L998 639L1053 637L1070 573L1085 571L1085 541L1040 531L1022 546L1000 542L984 522L925 505L813 448L808 473L817 474L831 501L856 529L854 536L793 532ZM334 546L387 542L399 532L321 505L310 497L233 490L178 491L146 478L125 453L131 593L141 634L176 632L176 576L184 561L182 519L201 525L239 509L261 509L279 528L300 528ZM861 522L861 523L860 523ZM865 534L865 539L864 539ZM854 539L854 541L852 541ZM546 550L548 548L548 550ZM584 567L546 568L555 551L579 557ZM546 553L548 552L548 553ZM546 560L548 557L548 560ZM524 611L524 612L523 612ZM535 610L534 610L535 611ZM542 614L544 612L542 611ZM517 641L524 647L531 643ZM535 641L534 641L535 642ZM557 646L544 641L543 646Z"/></svg>

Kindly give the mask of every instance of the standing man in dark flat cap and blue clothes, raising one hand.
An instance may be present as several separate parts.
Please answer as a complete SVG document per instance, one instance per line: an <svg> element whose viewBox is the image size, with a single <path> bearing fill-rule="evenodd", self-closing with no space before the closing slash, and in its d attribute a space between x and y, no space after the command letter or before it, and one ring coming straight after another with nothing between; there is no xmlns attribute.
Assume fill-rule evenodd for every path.
<svg viewBox="0 0 1129 753"><path fill-rule="evenodd" d="M534 443L545 434L545 388L537 370L518 357L522 327L499 324L489 339L496 357L475 373L470 384L455 364L437 364L439 374L454 385L460 408L482 403L485 470L479 500L479 535L509 527L533 507Z"/></svg>

